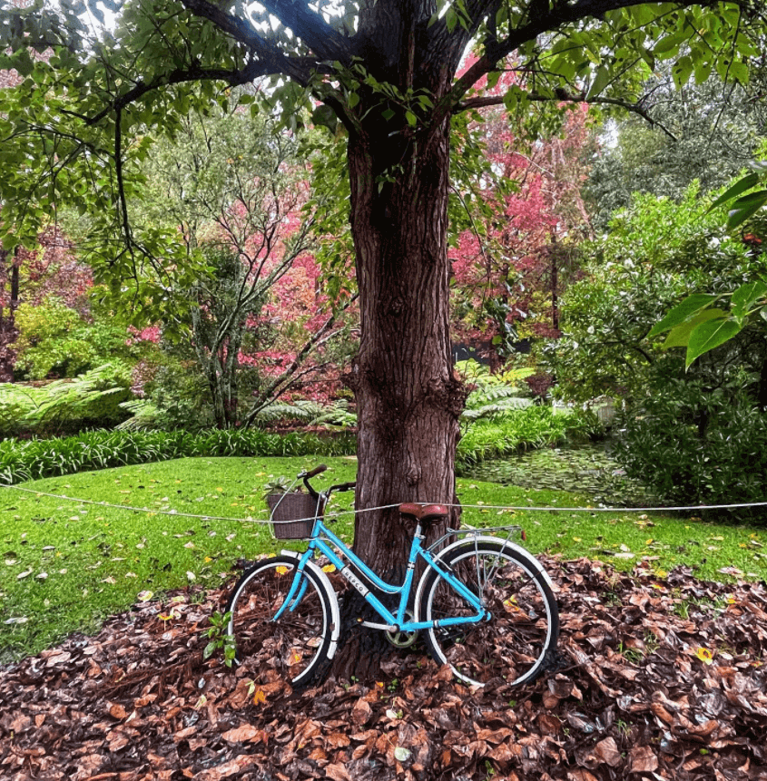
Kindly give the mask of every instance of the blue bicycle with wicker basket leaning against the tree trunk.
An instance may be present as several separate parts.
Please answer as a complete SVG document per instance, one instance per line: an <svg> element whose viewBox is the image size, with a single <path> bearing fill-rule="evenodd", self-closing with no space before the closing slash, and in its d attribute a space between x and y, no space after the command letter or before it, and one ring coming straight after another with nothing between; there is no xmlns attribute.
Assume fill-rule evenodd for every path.
<svg viewBox="0 0 767 781"><path fill-rule="evenodd" d="M296 482L302 480L309 493L285 494L272 510L275 536L308 538L308 549L256 561L231 591L226 610L236 662L247 664L261 683L287 679L293 687L327 672L341 626L330 574L339 587L346 581L359 591L380 617L360 617L359 623L384 631L400 648L422 635L438 664L448 664L468 684L516 685L536 678L556 649L559 613L552 583L535 557L515 542L489 536L493 530L448 530L424 548L424 532L444 521L448 509L405 503L399 512L415 522L408 570L401 584L388 583L325 524L330 495L355 487L341 483L316 491L310 478L326 468L300 473ZM295 501L303 510L283 506L280 514L290 496L301 497ZM510 528L516 527L503 527L507 535ZM320 563L314 561L319 555ZM411 600L418 560L425 569Z"/></svg>

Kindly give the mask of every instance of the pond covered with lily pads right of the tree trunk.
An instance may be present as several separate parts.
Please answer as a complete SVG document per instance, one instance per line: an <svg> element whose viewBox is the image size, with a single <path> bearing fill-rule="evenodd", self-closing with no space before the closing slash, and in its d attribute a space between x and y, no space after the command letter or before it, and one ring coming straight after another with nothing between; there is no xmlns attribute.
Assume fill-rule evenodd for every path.
<svg viewBox="0 0 767 781"><path fill-rule="evenodd" d="M522 488L585 493L595 503L609 505L636 507L657 501L641 483L625 476L610 456L609 442L531 450L462 466L460 476Z"/></svg>

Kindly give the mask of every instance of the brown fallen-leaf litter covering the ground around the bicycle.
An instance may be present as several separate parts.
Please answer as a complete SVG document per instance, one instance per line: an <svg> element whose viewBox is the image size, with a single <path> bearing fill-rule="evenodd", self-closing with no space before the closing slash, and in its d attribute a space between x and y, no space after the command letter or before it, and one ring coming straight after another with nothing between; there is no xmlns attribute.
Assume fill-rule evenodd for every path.
<svg viewBox="0 0 767 781"><path fill-rule="evenodd" d="M255 687L202 659L220 593L137 605L0 669L0 778L767 779L763 582L545 563L558 665L516 689L472 690L417 652L369 684Z"/></svg>

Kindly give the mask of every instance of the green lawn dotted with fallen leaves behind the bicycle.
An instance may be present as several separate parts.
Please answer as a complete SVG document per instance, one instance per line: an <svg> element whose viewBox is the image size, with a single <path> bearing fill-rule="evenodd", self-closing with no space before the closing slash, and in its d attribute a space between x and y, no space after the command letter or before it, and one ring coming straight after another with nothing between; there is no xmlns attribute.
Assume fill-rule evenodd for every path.
<svg viewBox="0 0 767 781"><path fill-rule="evenodd" d="M349 458L323 458L318 484L353 480ZM263 486L280 474L314 466L318 457L188 458L47 478L22 487L94 503L0 488L0 662L34 653L74 631L92 632L104 617L136 600L193 583L204 588L231 578L240 559L302 542L276 541L265 519ZM571 513L488 509L585 506L583 497L496 483L459 480L465 522L519 523L531 552L588 556L631 569L644 559L659 577L677 564L703 579L726 581L720 570L767 577L767 532L694 518L644 513ZM334 507L349 506L340 494ZM181 513L195 516L184 517ZM222 520L223 519L223 520ZM350 515L335 528L351 541Z"/></svg>

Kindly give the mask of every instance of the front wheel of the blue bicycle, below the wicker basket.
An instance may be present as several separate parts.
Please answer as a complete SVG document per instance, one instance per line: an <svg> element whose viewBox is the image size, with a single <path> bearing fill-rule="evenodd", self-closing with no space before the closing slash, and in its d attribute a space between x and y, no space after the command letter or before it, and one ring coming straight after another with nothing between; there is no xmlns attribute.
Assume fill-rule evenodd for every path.
<svg viewBox="0 0 767 781"><path fill-rule="evenodd" d="M290 556L257 561L231 592L226 610L235 662L247 665L256 682L282 678L294 687L307 686L329 666L331 597L310 567L285 605L297 566Z"/></svg>

